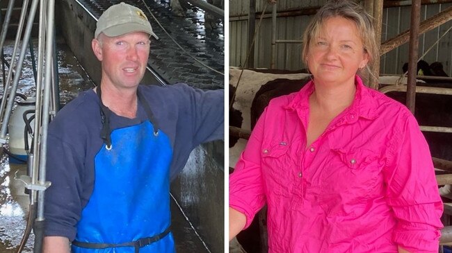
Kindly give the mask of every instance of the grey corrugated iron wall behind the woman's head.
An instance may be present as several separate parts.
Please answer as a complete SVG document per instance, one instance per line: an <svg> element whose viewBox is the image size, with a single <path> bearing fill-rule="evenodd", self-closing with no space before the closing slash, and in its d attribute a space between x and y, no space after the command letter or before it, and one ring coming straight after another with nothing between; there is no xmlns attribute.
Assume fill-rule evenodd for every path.
<svg viewBox="0 0 452 253"><path fill-rule="evenodd" d="M278 0L277 11L296 10L321 6L326 0L294 1ZM261 12L267 0L256 0L256 12ZM430 4L422 6L421 21L431 17L452 3ZM271 9L268 5L264 19L255 42L254 67L270 68L271 64ZM232 66L242 66L248 50L248 10L249 0L229 1L229 61ZM389 40L410 28L411 7L385 8L382 19L382 42ZM301 40L302 33L309 23L310 16L277 17L277 40ZM256 19L256 26L259 19ZM452 21L439 26L419 37L419 56L423 55L446 30L452 26ZM302 69L301 44L277 44L277 69ZM444 71L452 76L452 31L433 46L433 49L423 58L428 63L442 62ZM398 49L389 51L380 59L380 73L401 73L402 66L408 61L408 43ZM253 66L252 66L253 67Z"/></svg>

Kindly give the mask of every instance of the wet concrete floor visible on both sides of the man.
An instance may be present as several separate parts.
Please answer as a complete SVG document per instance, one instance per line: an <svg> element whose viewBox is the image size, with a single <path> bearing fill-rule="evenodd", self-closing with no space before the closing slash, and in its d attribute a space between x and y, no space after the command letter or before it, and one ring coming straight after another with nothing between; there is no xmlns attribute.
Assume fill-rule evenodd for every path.
<svg viewBox="0 0 452 253"><path fill-rule="evenodd" d="M37 43L35 42L35 47ZM60 80L60 102L65 104L77 96L79 91L94 87L88 75L65 46L64 41L58 40L58 71ZM13 42L7 41L5 46L6 59L10 61L13 52ZM1 75L0 75L1 76ZM3 89L0 87L1 94ZM26 96L35 94L31 57L26 55L22 78L19 81L19 92ZM24 185L14 180L15 175L24 175L26 165L9 164L6 156L0 157L0 252L17 252L26 227L26 217L29 211L29 197L24 193ZM223 203L223 200L219 201ZM171 201L172 231L175 235L177 252L216 252L207 250L193 230L181 209L174 200ZM223 213L221 214L223 218ZM223 223L222 223L223 224ZM193 226L193 227L192 227ZM223 229L222 229L223 231ZM33 233L22 252L33 252ZM223 250L218 251L223 252Z"/></svg>

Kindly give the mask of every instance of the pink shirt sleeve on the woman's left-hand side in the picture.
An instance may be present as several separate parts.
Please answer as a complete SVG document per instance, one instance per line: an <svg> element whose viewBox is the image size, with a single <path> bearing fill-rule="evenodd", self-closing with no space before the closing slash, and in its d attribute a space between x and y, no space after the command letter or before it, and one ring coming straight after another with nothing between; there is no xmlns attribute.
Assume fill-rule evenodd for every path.
<svg viewBox="0 0 452 253"><path fill-rule="evenodd" d="M229 177L229 207L243 213L250 226L255 214L266 202L261 173L261 143L266 111L252 131L250 139Z"/></svg>

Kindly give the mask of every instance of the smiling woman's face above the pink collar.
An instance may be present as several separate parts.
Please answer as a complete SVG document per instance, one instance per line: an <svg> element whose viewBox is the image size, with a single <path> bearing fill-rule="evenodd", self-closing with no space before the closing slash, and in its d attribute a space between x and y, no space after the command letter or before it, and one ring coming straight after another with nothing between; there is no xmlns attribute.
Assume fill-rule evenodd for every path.
<svg viewBox="0 0 452 253"><path fill-rule="evenodd" d="M368 60L355 23L344 17L327 19L307 53L314 80L326 85L354 84L358 68Z"/></svg>

